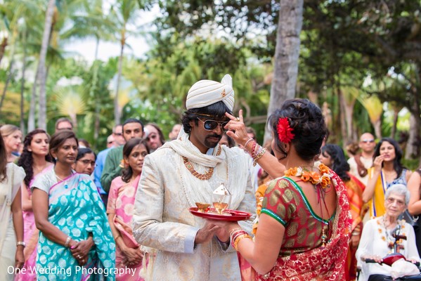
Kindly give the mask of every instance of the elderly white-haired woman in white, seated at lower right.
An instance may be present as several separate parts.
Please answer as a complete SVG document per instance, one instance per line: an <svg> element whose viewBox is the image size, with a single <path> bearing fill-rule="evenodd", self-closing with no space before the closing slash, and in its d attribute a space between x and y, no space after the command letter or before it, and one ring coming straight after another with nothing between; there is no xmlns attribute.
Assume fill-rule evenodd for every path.
<svg viewBox="0 0 421 281"><path fill-rule="evenodd" d="M399 219L408 207L409 197L405 185L392 185L384 194L384 215L365 223L356 251L358 266L361 268L358 280L391 280L392 267L381 264L387 254L399 252L407 261L420 261L414 229L405 220ZM405 238L396 240L397 235ZM365 263L368 259L377 263Z"/></svg>

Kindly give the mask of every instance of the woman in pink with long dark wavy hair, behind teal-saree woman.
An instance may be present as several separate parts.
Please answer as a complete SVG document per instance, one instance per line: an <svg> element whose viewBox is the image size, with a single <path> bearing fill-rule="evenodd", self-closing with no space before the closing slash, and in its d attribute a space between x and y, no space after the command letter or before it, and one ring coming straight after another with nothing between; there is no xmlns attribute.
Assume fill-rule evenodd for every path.
<svg viewBox="0 0 421 281"><path fill-rule="evenodd" d="M34 270L31 269L34 268L35 260L37 259L39 231L37 226L35 226L30 186L31 183L34 182L34 178L36 176L46 171L46 169L51 169L53 166L51 156L48 152L49 143L50 136L48 136L46 131L43 129L35 129L34 131L31 131L25 136L22 155L20 155L18 160L18 166L21 166L26 173L21 187L25 234L24 241L26 243L24 250L25 265L23 267L26 270L21 271L18 275L16 275L16 281L37 279L37 275Z"/></svg>

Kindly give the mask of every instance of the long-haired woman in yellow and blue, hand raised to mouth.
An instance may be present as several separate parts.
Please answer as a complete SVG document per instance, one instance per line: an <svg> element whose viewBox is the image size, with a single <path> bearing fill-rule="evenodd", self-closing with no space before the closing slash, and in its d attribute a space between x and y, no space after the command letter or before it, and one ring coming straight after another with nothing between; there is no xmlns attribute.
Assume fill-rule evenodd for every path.
<svg viewBox="0 0 421 281"><path fill-rule="evenodd" d="M370 204L370 216L384 215L384 192L391 185L408 182L411 171L402 165L401 159L402 150L393 138L382 138L377 143L363 192L363 201Z"/></svg>

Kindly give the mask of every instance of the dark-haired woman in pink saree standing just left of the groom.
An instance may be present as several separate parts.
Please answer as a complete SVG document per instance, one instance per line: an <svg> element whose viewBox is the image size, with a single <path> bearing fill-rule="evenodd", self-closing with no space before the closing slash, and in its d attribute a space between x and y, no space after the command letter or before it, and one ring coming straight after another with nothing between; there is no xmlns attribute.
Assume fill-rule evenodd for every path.
<svg viewBox="0 0 421 281"><path fill-rule="evenodd" d="M115 178L108 195L108 221L114 235L115 266L130 268L116 280L143 280L141 277L143 251L136 242L131 230L131 218L134 211L134 198L141 178L143 159L148 155L148 147L141 138L132 138L123 148L124 169L122 176ZM122 270L123 272L123 270Z"/></svg>

